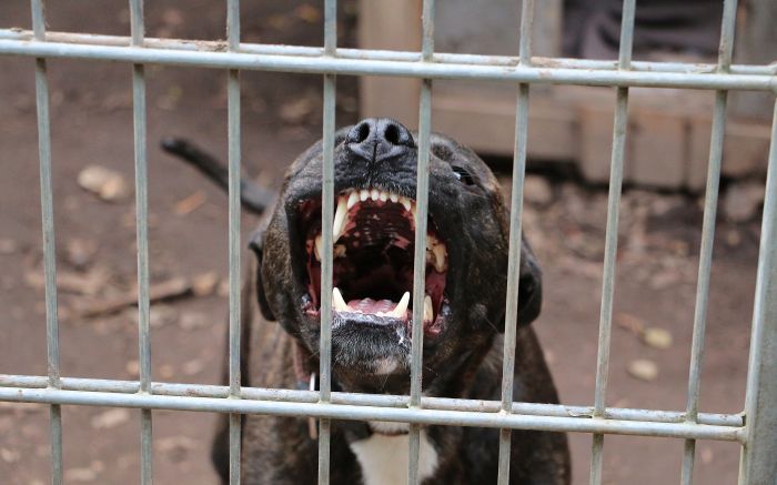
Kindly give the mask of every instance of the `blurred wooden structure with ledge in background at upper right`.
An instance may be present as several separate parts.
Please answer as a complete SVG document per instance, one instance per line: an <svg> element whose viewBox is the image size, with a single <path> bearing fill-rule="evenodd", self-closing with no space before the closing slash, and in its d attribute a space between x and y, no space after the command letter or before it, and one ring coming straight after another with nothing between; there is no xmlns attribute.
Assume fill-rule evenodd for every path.
<svg viewBox="0 0 777 485"><path fill-rule="evenodd" d="M435 50L517 55L521 2L448 0L435 18ZM360 0L359 44L366 49L414 51L421 44L421 0ZM636 7L635 61L684 62L715 70L723 1L640 0ZM537 57L615 60L620 28L618 0L544 0L534 16ZM735 64L767 64L777 53L777 2L738 4ZM538 60L542 62L542 60ZM706 65L699 68L698 63ZM551 62L552 65L552 62ZM777 69L777 68L776 68ZM389 115L408 127L417 122L420 81L364 78L361 115ZM511 83L435 81L435 129L482 154L513 153L514 102ZM391 99L383 94L390 90ZM528 133L533 161L571 162L583 178L605 184L615 113L612 88L542 85L532 89ZM636 89L629 94L626 183L700 192L709 155L714 95L700 91ZM723 174L730 180L766 173L769 150L768 93L733 92L727 109Z"/></svg>

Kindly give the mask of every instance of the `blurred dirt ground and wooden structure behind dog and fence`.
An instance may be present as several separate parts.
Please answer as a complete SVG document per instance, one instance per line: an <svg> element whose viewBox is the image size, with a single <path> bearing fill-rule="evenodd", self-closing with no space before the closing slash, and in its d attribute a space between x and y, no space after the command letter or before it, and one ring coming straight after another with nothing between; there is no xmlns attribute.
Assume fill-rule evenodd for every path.
<svg viewBox="0 0 777 485"><path fill-rule="evenodd" d="M519 2L440 2L436 50L517 53ZM420 1L341 1L339 44L417 50ZM538 2L538 55L615 59L619 1ZM717 1L640 1L635 59L715 62ZM775 6L740 2L735 62L777 53ZM673 7L674 6L674 7ZM678 7L679 6L679 7ZM129 34L124 0L59 0L50 31ZM322 2L242 2L242 41L321 46ZM30 28L29 2L0 3L0 28ZM148 37L224 38L216 0L147 2ZM0 58L0 373L46 374L40 193L31 59ZM49 61L62 375L138 378L131 67ZM317 75L243 72L244 171L278 188L284 168L321 138ZM153 378L220 383L226 321L226 198L165 155L169 135L226 159L226 74L148 67ZM622 201L609 406L686 406L702 203L714 93L632 90ZM615 93L533 87L524 232L545 273L534 323L562 401L593 403ZM768 97L767 97L768 98ZM337 79L337 125L365 115L417 124L417 81ZM509 190L515 87L435 82L433 129L471 144ZM733 94L714 250L703 412L744 406L771 101ZM244 215L245 238L258 220ZM250 257L248 254L244 257ZM129 299L129 300L128 300ZM154 412L158 483L215 483L215 416ZM139 413L63 410L67 483L139 481ZM574 483L587 483L591 436L571 435ZM679 477L683 442L605 439L605 483ZM698 484L736 483L739 447L697 445ZM0 482L49 478L48 411L0 403Z"/></svg>

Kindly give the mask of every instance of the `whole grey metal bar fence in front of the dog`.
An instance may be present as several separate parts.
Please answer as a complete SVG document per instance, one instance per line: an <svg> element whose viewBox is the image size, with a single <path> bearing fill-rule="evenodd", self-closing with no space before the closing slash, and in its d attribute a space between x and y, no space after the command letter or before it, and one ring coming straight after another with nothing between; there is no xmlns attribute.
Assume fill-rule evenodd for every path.
<svg viewBox="0 0 777 485"><path fill-rule="evenodd" d="M230 476L240 482L240 414L313 416L320 420L319 482L329 483L330 420L377 420L410 423L408 483L417 483L421 425L500 428L498 483L508 482L512 430L542 430L593 434L591 483L602 483L605 434L664 436L685 441L683 484L693 481L697 439L722 439L741 445L740 484L777 484L777 105L761 228L755 294L746 407L739 414L698 412L700 363L709 294L718 183L725 133L726 100L730 90L777 93L777 64L733 65L736 0L726 0L717 64L632 61L635 0L625 0L617 62L532 57L533 0L524 0L518 58L434 52L434 1L423 3L421 52L396 52L336 47L336 2L326 0L324 48L248 44L240 42L239 0L228 0L226 42L181 42L148 39L142 0L130 0L131 37L46 32L43 0L31 0L32 31L0 29L0 54L36 59L41 208L46 270L48 376L0 374L0 401L44 403L51 408L52 483L62 483L62 405L122 406L141 410L141 478L152 483L152 410L208 411L230 414ZM51 190L51 144L47 59L111 60L132 64L134 161L137 190L140 380L108 381L60 376ZM149 253L147 205L145 64L186 65L228 70L229 107L229 261L230 357L229 386L152 382L149 344ZM421 360L423 305L413 309L410 396L331 392L332 225L322 224L321 385L319 392L241 387L240 384L240 70L317 73L324 81L323 218L333 219L335 77L393 75L423 79L420 99L417 228L415 232L414 301L424 294L431 97L433 79L513 81L518 85L515 122L506 330L501 402L422 397ZM526 162L528 92L532 84L616 87L616 110L599 321L596 392L593 406L513 402L513 367L521 214ZM605 406L612 329L617 225L626 139L628 92L633 87L685 88L716 91L709 149L703 238L696 292L693 347L685 411L613 408Z"/></svg>

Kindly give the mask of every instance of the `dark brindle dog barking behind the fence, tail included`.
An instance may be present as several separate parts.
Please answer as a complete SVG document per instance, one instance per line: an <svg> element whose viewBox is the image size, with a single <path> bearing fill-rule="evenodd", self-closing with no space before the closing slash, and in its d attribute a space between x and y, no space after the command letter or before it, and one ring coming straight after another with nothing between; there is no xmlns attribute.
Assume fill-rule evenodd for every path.
<svg viewBox="0 0 777 485"><path fill-rule="evenodd" d="M213 170L181 142L168 151ZM500 184L470 149L432 134L423 302L411 302L415 233L415 135L390 119L366 119L335 133L332 390L408 394L412 306L424 305L425 396L501 400L508 211ZM199 163L196 162L199 160ZM322 143L289 169L274 209L251 239L255 254L242 291L243 385L307 388L319 368ZM210 168L210 169L209 169ZM244 206L264 212L258 189ZM515 401L557 403L537 337L542 272L523 241L519 266ZM311 484L317 477L315 428L304 417L245 415L242 483ZM333 421L331 481L389 485L407 479L407 425ZM213 444L229 474L226 420ZM423 426L424 484L493 483L498 430ZM569 483L563 433L513 431L511 483Z"/></svg>

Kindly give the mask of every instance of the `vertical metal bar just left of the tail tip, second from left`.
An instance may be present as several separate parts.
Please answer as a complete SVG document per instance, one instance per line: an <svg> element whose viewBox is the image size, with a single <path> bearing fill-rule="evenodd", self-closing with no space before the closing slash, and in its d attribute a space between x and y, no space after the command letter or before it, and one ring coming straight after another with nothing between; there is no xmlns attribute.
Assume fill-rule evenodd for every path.
<svg viewBox="0 0 777 485"><path fill-rule="evenodd" d="M130 0L132 47L143 46L143 2ZM151 339L149 335L149 196L148 158L145 150L145 72L142 64L132 65L132 119L134 129L135 216L138 241L138 353L140 392L151 392ZM151 410L140 412L141 483L153 482Z"/></svg>

